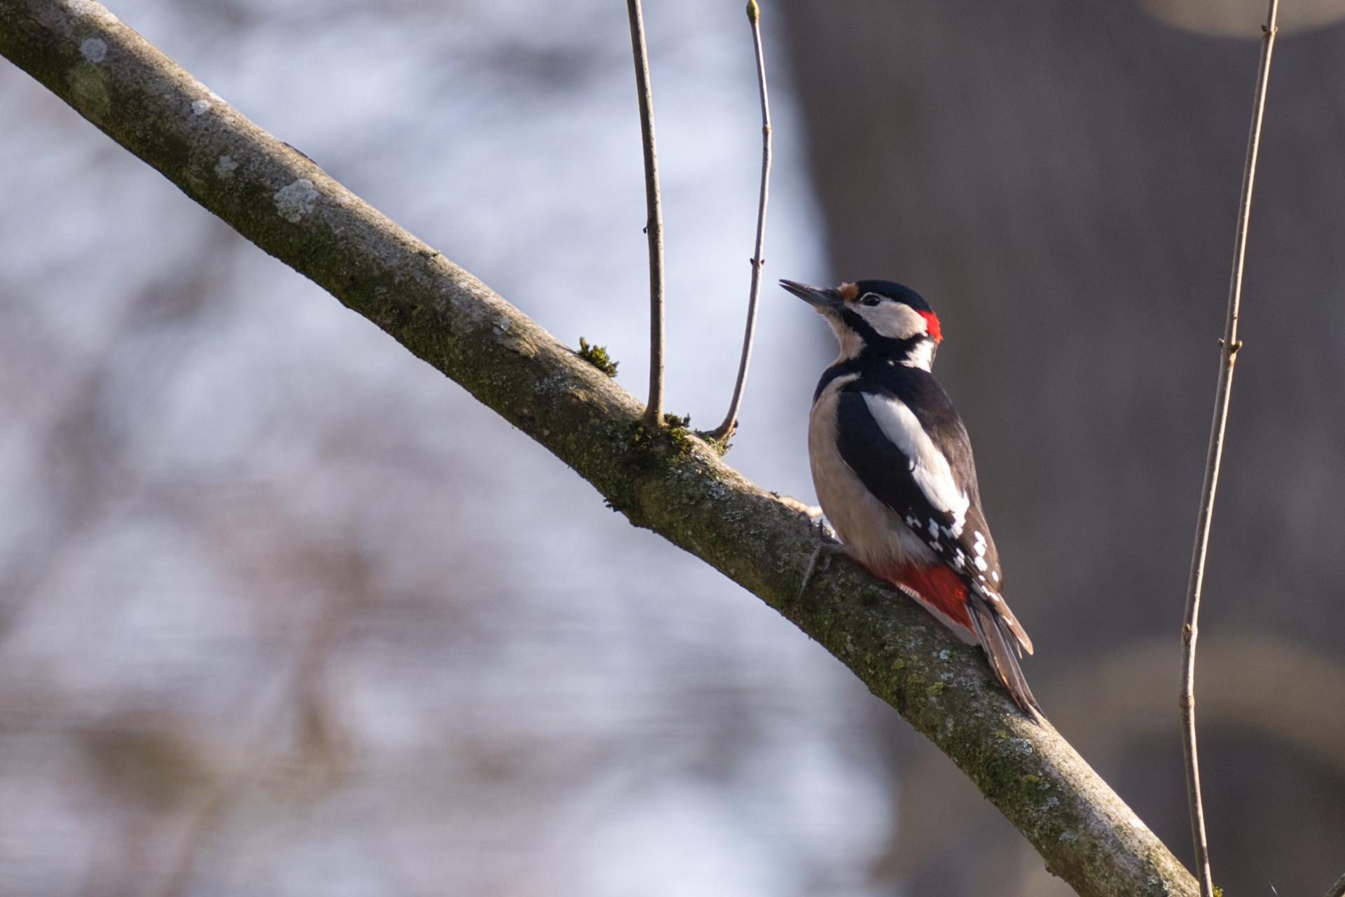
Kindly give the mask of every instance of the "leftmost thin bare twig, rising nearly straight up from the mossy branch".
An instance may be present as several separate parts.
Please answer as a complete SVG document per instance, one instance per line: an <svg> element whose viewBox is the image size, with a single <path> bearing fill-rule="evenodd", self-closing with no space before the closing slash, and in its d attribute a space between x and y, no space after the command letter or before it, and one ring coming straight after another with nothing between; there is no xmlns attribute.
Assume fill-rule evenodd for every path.
<svg viewBox="0 0 1345 897"><path fill-rule="evenodd" d="M663 203L659 199L659 155L654 147L654 93L650 90L650 58L644 46L644 12L640 0L625 0L631 17L631 51L635 55L635 90L640 97L640 137L644 144L644 204L650 237L650 403L644 420L663 425Z"/></svg>

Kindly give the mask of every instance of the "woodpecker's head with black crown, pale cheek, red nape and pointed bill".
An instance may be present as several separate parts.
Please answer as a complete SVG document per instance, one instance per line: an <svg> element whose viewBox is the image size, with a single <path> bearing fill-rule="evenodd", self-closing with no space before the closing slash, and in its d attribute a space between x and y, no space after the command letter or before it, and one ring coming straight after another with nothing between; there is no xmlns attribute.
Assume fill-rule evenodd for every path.
<svg viewBox="0 0 1345 897"><path fill-rule="evenodd" d="M920 293L890 280L861 280L822 289L781 280L780 286L818 309L841 342L841 358L889 355L929 370L943 340L939 316Z"/></svg>

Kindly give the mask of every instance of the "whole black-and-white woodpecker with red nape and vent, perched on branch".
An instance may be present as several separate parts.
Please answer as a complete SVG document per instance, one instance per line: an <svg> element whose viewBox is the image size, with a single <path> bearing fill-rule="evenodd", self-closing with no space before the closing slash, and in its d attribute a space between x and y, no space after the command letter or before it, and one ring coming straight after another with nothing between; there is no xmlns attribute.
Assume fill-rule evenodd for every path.
<svg viewBox="0 0 1345 897"><path fill-rule="evenodd" d="M979 643L1014 702L1040 719L1018 667L1032 640L1001 597L967 428L929 373L939 317L913 289L886 280L780 285L841 343L812 394L808 459L843 550Z"/></svg>

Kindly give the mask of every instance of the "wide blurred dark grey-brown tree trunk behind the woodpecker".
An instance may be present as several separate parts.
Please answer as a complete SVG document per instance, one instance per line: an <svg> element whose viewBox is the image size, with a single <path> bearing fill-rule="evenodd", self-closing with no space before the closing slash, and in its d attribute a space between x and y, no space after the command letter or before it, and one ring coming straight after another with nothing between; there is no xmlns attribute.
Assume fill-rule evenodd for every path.
<svg viewBox="0 0 1345 897"><path fill-rule="evenodd" d="M1130 3L785 8L834 276L901 280L940 312L939 374L976 445L1046 711L1083 736L1107 703L1050 694L1064 701L1080 668L1139 639L1171 637L1170 695L1151 702L1171 737L1137 734L1089 758L1189 858L1178 628L1263 11L1235 40ZM1267 633L1337 654L1345 629L1342 145L1345 30L1283 36L1205 643ZM1198 679L1197 701L1219 689ZM1345 711L1322 714L1338 728ZM1345 769L1258 729L1248 706L1202 742L1216 880L1321 893L1342 861ZM917 740L894 738L911 768ZM1013 830L989 807L978 815L955 775L943 780L968 807L962 832L921 842L909 820L947 795L913 785L909 841L880 874L905 877L912 893L1037 888ZM967 835L986 863L966 862Z"/></svg>

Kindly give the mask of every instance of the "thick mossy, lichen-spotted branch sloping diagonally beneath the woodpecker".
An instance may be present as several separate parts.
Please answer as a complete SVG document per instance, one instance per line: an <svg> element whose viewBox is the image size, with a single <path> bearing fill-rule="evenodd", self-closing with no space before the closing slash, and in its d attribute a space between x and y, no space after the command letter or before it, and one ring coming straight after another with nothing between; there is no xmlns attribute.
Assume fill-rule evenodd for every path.
<svg viewBox="0 0 1345 897"><path fill-rule="evenodd" d="M814 530L91 0L0 0L0 54L261 249L550 449L636 526L760 596L929 737L1088 897L1196 882L979 652L853 563L796 601ZM445 200L445 203L451 203ZM469 210L463 210L469 214Z"/></svg>

